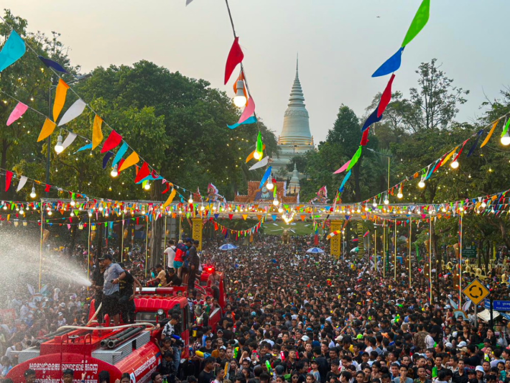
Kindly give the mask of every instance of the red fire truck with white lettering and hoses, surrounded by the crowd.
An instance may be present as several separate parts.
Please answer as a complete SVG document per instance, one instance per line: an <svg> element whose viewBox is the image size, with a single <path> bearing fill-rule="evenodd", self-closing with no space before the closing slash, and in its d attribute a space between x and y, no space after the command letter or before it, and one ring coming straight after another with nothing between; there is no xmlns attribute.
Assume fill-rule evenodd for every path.
<svg viewBox="0 0 510 383"><path fill-rule="evenodd" d="M207 272L204 277L206 275ZM220 286L223 288L223 276ZM210 289L203 286L197 284L195 287L206 296L212 294ZM14 382L24 381L23 372L30 368L36 372L37 381L60 382L62 371L72 369L75 382L79 383L82 373L86 372L85 381L96 383L98 373L106 370L110 373L111 381L127 372L131 376L131 383L146 382L161 363L156 342L161 339L162 329L157 324L177 310L182 316L181 338L185 344L181 362L185 363L189 357L193 314L185 292L185 286L144 288L135 298L134 325L117 328L103 327L98 323L82 328L64 326L60 331L48 334L33 342L31 347L19 351L19 364L9 371L7 377ZM225 302L224 290L221 290L218 301ZM209 315L209 325L216 327L220 318L221 308L217 307Z"/></svg>

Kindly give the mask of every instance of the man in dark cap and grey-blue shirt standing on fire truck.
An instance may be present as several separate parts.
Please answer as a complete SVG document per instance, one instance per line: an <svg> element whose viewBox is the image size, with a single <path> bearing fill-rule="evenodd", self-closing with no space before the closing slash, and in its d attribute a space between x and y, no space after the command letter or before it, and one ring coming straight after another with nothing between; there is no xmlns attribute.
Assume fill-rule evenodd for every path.
<svg viewBox="0 0 510 383"><path fill-rule="evenodd" d="M112 256L110 254L101 256L99 258L99 265L105 269L103 274L105 279L103 285L104 313L108 314L110 319L113 319L115 326L118 326L120 313L119 281L124 279L126 274L119 264L114 264L112 262Z"/></svg>

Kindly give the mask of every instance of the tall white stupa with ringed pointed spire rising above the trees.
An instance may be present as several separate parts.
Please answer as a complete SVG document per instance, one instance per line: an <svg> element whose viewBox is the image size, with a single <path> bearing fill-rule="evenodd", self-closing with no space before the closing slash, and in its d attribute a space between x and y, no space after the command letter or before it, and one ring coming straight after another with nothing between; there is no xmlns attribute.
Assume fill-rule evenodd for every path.
<svg viewBox="0 0 510 383"><path fill-rule="evenodd" d="M282 133L278 136L278 148L280 149L280 157L272 159L273 174L281 174L280 169L290 163L292 157L303 155L314 149L314 138L310 133L308 110L304 106L303 90L299 82L297 60L296 77L292 84L289 105L284 114ZM293 173L288 172L288 176Z"/></svg>

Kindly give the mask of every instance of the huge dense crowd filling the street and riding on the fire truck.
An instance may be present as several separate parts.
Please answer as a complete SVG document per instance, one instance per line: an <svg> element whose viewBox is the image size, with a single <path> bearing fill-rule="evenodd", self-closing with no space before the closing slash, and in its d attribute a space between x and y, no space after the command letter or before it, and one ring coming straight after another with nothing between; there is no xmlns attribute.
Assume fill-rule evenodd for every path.
<svg viewBox="0 0 510 383"><path fill-rule="evenodd" d="M397 262L396 272L392 264L383 272L368 258L346 253L335 259L327 244L324 254L307 254L311 237L283 244L277 236L260 235L234 251L206 243L201 254L191 238L180 242L168 244L167 264L157 265L147 278L136 260L115 264L106 252L97 259L88 292L82 287L64 295L57 287L51 297L36 300L35 308L28 300L13 302L21 321L7 324L7 337L4 329L0 338L3 376L15 363L12 350L62 323L85 323L91 298L103 302L112 320L127 323L133 320L129 302L137 286L187 281L194 356L186 363L177 357L183 345L171 336L180 333L182 318L172 315L161 323L162 363L151 375L156 383L510 382L506 320L478 319L475 325L473 305L460 312L458 288L448 272L439 270L430 300L429 278L420 263L425 260L413 260L410 285L406 262ZM217 301L193 289L203 264L214 265L225 277L227 301L214 332L207 317ZM208 284L216 282L213 276ZM507 285L496 277L485 283L497 296L508 296ZM128 381L129 375L121 379Z"/></svg>

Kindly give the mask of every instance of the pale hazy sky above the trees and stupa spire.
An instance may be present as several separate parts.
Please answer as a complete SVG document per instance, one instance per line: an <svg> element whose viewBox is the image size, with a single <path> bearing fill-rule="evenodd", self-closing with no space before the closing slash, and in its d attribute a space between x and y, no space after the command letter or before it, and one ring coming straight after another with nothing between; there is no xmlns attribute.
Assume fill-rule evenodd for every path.
<svg viewBox="0 0 510 383"><path fill-rule="evenodd" d="M258 116L278 135L295 76L310 114L314 140L324 140L341 104L362 116L389 77L372 78L394 54L421 0L230 0L244 68ZM223 85L233 42L224 0L4 0L30 31L61 33L73 64L97 66L149 60ZM437 58L454 85L469 89L458 121L481 116L480 105L508 86L507 0L431 0L430 19L407 45L393 90L409 95L415 70ZM378 17L379 16L379 17ZM236 70L237 71L237 70ZM90 102L91 100L86 100Z"/></svg>

